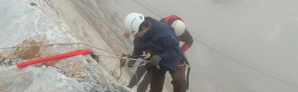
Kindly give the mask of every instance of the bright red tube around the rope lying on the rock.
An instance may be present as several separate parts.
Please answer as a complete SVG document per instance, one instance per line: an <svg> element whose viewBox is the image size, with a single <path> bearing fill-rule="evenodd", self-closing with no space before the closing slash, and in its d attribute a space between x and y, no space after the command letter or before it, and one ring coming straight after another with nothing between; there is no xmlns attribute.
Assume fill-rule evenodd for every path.
<svg viewBox="0 0 298 92"><path fill-rule="evenodd" d="M61 59L61 58L66 58L66 57L80 55L80 54L90 54L91 52L92 51L90 51L90 50L79 49L79 50L75 50L75 51L71 51L71 52L67 52L67 53L52 55L52 56L45 57L45 58L40 58L40 59L30 60L30 61L26 61L26 62L22 62L22 63L17 63L16 66L17 67L25 67L28 65L46 62L46 61L50 61L50 60Z"/></svg>

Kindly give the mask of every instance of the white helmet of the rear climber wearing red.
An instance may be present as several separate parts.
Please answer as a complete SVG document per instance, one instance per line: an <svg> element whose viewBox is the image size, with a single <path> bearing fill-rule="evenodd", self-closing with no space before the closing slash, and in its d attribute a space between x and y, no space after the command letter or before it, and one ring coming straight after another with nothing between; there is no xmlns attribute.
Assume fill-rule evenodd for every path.
<svg viewBox="0 0 298 92"><path fill-rule="evenodd" d="M181 20L175 20L172 24L172 27L174 28L177 37L182 35L185 31L185 24Z"/></svg>

